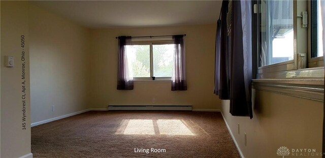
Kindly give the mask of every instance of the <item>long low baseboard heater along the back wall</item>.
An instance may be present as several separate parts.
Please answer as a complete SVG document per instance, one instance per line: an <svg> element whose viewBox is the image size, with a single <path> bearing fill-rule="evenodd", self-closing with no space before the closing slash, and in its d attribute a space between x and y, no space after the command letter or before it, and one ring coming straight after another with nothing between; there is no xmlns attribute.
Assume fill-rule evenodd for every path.
<svg viewBox="0 0 325 158"><path fill-rule="evenodd" d="M192 106L173 106L173 105L133 105L133 106L124 106L124 105L113 105L108 106L108 110L189 110L192 111Z"/></svg>

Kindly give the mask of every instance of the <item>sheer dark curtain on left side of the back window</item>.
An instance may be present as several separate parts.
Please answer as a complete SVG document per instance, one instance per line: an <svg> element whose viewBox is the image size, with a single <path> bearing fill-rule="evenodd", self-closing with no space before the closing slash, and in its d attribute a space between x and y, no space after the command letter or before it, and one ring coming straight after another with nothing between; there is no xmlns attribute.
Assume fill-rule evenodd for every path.
<svg viewBox="0 0 325 158"><path fill-rule="evenodd" d="M127 61L127 46L131 45L131 36L118 37L117 50L117 89L118 90L132 90L133 89L133 75L132 69Z"/></svg>

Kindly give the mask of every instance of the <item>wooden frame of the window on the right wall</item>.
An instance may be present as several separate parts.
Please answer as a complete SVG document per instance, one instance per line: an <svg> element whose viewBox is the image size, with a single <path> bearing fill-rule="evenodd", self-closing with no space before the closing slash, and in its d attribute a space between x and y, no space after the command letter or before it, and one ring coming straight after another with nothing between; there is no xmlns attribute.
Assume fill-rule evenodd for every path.
<svg viewBox="0 0 325 158"><path fill-rule="evenodd" d="M260 48L260 33L259 33L259 21L261 21L261 13L259 13L259 8L261 8L261 1L252 1L257 4L257 13L252 13L255 21L253 24L258 24L255 30L257 35L253 37L252 47L257 49L257 55L254 57L256 66L253 68L256 71L255 79L280 79L280 78L323 78L324 68L323 68L323 56L311 58L310 52L310 2L309 1L293 1L293 20L294 20L294 59L279 62L276 64L271 64L267 66L259 67L259 54L262 52ZM252 7L255 8L256 7ZM308 11L308 27L301 27L301 20L297 15L303 11ZM299 13L299 14L298 14ZM299 38L297 38L299 37ZM307 41L306 41L307 39ZM316 62L315 66L311 66L311 63Z"/></svg>

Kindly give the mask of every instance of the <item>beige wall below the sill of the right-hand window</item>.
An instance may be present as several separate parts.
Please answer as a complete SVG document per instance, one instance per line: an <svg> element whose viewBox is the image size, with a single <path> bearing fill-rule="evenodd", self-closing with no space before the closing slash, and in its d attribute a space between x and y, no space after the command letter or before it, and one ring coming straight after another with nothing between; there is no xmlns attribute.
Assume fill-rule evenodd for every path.
<svg viewBox="0 0 325 158"><path fill-rule="evenodd" d="M251 120L249 117L231 116L229 101L222 101L221 106L245 157L278 157L276 152L280 146L286 146L290 152L293 148L310 148L321 152L322 102L267 91L253 90L253 93L254 116ZM247 146L244 133L247 135ZM290 154L284 157L310 156Z"/></svg>

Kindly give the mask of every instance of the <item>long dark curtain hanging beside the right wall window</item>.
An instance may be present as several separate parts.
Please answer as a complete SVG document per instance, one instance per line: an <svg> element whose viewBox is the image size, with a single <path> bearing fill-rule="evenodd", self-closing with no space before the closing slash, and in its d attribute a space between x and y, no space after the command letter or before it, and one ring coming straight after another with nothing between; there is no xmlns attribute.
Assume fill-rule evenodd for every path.
<svg viewBox="0 0 325 158"><path fill-rule="evenodd" d="M230 100L233 116L252 115L252 42L250 1L223 1L216 34L215 91ZM219 47L219 48L218 48Z"/></svg>

